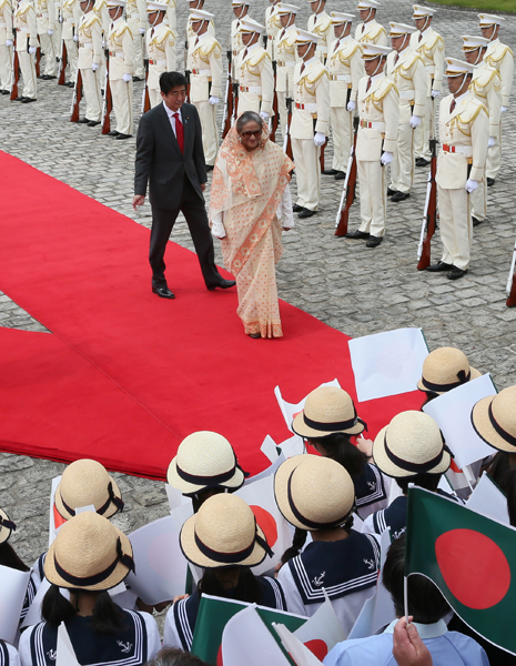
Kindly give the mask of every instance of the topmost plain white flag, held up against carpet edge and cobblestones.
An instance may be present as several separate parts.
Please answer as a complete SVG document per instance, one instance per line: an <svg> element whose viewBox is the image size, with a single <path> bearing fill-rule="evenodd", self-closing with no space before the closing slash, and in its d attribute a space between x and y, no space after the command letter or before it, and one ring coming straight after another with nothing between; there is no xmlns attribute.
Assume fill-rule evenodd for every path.
<svg viewBox="0 0 516 666"><path fill-rule="evenodd" d="M350 340L358 402L417 390L428 345L422 329L397 329Z"/></svg>

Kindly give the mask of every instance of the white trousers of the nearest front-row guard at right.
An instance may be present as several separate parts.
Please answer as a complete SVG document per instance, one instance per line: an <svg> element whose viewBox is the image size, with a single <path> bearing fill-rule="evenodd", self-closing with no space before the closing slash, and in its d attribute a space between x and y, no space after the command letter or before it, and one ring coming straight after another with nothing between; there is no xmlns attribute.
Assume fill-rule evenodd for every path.
<svg viewBox="0 0 516 666"><path fill-rule="evenodd" d="M441 216L441 261L465 271L469 265L473 224L469 213L469 194L465 188L446 190L437 185Z"/></svg>

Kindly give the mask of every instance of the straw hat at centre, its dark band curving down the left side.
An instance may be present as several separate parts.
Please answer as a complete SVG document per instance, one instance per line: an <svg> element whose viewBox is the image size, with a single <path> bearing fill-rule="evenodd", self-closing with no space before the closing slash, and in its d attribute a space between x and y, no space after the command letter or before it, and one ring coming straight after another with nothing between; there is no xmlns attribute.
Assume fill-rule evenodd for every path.
<svg viewBox="0 0 516 666"><path fill-rule="evenodd" d="M291 525L311 531L338 527L355 504L355 487L344 467L331 458L306 454L280 465L274 495Z"/></svg>

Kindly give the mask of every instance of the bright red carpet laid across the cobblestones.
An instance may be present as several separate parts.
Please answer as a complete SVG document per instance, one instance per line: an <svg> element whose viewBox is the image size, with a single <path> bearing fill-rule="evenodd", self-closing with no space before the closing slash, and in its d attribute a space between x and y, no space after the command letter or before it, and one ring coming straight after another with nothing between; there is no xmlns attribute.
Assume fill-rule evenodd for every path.
<svg viewBox="0 0 516 666"><path fill-rule="evenodd" d="M281 303L284 337L253 341L236 292L208 292L171 243L173 302L151 293L149 231L0 153L0 290L53 335L0 329L0 448L163 478L181 440L225 435L244 468L264 436L289 437L276 400L337 377L354 397L347 337ZM345 307L345 304L343 304ZM372 435L419 393L358 405Z"/></svg>

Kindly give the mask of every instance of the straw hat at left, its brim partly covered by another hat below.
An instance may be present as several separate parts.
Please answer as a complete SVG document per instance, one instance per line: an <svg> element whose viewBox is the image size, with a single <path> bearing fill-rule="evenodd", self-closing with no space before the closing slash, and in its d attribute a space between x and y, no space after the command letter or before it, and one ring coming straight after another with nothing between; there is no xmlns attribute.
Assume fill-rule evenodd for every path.
<svg viewBox="0 0 516 666"><path fill-rule="evenodd" d="M110 518L123 508L122 493L105 467L83 458L71 463L55 488L55 508L67 521L77 508L92 504L101 516Z"/></svg>

